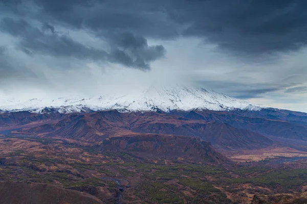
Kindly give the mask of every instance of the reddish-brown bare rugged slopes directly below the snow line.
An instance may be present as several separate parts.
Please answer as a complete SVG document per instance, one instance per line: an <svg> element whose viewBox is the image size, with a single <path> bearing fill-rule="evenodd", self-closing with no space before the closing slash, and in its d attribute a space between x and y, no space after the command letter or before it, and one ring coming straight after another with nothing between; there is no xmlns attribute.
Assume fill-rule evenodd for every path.
<svg viewBox="0 0 307 204"><path fill-rule="evenodd" d="M17 113L12 114L16 115ZM50 118L56 116L55 113L31 113L31 115L30 118L36 118L35 115L50 115ZM54 115L54 117L51 115ZM41 120L39 123L31 122L28 125L19 126L19 129L12 133L47 137L59 136L93 144L108 137L124 138L139 134L148 134L148 137L153 137L152 134L197 137L211 142L215 147L227 149L256 149L267 147L273 143L271 139L264 135L223 122L189 119L170 113L120 113L117 110L65 114L58 119ZM175 143L176 141L173 141L173 144Z"/></svg>

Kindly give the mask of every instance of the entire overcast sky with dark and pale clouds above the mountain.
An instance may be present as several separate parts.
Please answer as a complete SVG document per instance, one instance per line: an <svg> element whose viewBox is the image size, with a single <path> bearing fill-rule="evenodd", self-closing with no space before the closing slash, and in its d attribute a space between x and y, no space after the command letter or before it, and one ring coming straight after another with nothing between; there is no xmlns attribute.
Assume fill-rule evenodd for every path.
<svg viewBox="0 0 307 204"><path fill-rule="evenodd" d="M165 82L307 112L305 0L0 0L0 95Z"/></svg>

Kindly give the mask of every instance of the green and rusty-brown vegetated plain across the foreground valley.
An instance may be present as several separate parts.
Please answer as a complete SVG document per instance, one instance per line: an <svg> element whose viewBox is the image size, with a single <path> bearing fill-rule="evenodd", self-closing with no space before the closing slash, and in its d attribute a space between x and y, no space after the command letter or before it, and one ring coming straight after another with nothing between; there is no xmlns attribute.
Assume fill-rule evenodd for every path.
<svg viewBox="0 0 307 204"><path fill-rule="evenodd" d="M55 184L91 194L97 193L100 189L97 187L103 187L109 191L108 195L116 195L118 187L109 178L119 179L123 185L129 180L133 187L126 188L124 199L137 198L144 203L184 203L184 200L186 203L229 203L225 191L238 196L245 196L246 192L291 193L301 191L307 183L307 169L273 168L265 164L226 168L171 159L143 160L124 152L104 152L59 139L25 136L21 140L51 145L52 153L44 146L41 148L46 152L39 151L39 154L27 149L7 151L0 155L2 181ZM69 147L86 154L75 154L75 149Z"/></svg>

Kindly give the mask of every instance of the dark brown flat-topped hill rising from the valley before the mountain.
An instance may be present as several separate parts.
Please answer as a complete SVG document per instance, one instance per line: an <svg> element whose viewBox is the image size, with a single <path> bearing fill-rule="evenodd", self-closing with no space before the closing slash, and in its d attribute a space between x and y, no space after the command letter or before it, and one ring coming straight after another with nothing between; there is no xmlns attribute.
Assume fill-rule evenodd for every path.
<svg viewBox="0 0 307 204"><path fill-rule="evenodd" d="M105 139L100 148L126 151L138 157L185 158L192 161L224 163L229 161L216 152L210 142L200 138L158 134L139 134Z"/></svg>

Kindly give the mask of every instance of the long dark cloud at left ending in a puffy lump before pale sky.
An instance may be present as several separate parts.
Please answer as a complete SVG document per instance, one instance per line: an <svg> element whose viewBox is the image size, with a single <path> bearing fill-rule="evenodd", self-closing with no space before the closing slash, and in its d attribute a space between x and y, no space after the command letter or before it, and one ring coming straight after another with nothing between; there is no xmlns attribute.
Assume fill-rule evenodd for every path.
<svg viewBox="0 0 307 204"><path fill-rule="evenodd" d="M28 55L44 54L54 57L74 57L83 60L110 61L132 68L148 70L149 63L164 56L162 45L148 46L143 37L126 33L113 39L114 50L106 52L83 45L70 36L55 32L53 25L43 23L38 29L23 19L3 18L0 29L12 36L19 37L19 46ZM50 31L50 32L49 32Z"/></svg>

